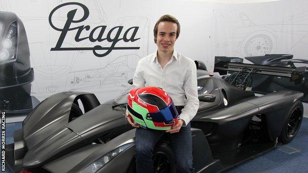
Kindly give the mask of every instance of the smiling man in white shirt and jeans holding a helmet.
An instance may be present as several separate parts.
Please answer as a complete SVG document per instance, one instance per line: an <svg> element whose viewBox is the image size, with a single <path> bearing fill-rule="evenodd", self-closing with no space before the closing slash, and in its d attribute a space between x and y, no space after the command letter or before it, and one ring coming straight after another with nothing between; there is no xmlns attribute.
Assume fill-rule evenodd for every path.
<svg viewBox="0 0 308 173"><path fill-rule="evenodd" d="M193 173L192 132L190 121L199 107L196 67L194 62L174 49L180 35L180 24L171 15L163 15L154 27L154 42L157 51L142 58L133 78L136 87L155 86L164 89L172 98L180 114L178 123L165 131L170 133L170 147L174 152L178 173ZM127 121L136 129L137 173L152 173L152 152L155 143L164 131L138 128L127 116Z"/></svg>

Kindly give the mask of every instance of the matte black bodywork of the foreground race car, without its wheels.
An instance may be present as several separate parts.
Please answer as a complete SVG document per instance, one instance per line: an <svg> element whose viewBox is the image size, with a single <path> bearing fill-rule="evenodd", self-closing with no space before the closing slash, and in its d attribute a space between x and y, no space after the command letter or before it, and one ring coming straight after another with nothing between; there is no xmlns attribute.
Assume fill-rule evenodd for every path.
<svg viewBox="0 0 308 173"><path fill-rule="evenodd" d="M255 115L262 115L266 119L271 140L269 143L275 143L287 119L290 106L303 96L303 93L298 91L284 90L255 97L253 92L237 89L220 77L209 74L198 69L197 79L213 80L215 88L208 94L216 96L215 102L201 102L197 115L191 121L194 168L195 172L200 173L220 172L268 150L273 145L261 147L263 149L257 150L257 153L244 154L240 160L233 159L228 163L226 160L221 163L217 154L240 150L243 134ZM83 102L94 104L89 104L91 106L86 108L88 111L68 122L71 105L81 97L85 98ZM224 104L224 99L228 101L227 105ZM20 145L21 148L15 148L14 151L15 159L22 158L26 153L22 166L21 162L13 165L14 158L11 156L8 157L11 159L8 161L9 165L13 170L23 167L44 168L54 173L61 173L61 170L76 173L117 146L125 142L134 142L135 130L131 130L132 127L126 122L125 108L112 108L112 102L98 105L93 94L82 92L64 92L47 98L27 116L23 122L23 129L14 134L16 146L20 145L17 141L23 141L24 137L25 147ZM108 135L111 138L107 143L92 144L94 139ZM9 153L13 151L10 150ZM211 153L215 155L212 156ZM131 147L98 173L125 173L133 158L134 147Z"/></svg>

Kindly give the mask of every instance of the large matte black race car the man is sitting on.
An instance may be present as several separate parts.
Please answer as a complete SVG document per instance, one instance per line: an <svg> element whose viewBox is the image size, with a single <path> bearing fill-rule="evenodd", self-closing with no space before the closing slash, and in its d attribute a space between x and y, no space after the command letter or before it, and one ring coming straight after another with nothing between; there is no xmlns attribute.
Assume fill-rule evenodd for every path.
<svg viewBox="0 0 308 173"><path fill-rule="evenodd" d="M191 121L196 173L222 172L295 138L303 93L282 90L256 97L249 88L206 71L202 62L196 66L200 106ZM285 69L275 75L282 73L291 75ZM45 99L6 146L8 165L17 173L134 173L135 129L124 117L129 90L103 104L83 92ZM154 148L155 173L175 173L169 135Z"/></svg>

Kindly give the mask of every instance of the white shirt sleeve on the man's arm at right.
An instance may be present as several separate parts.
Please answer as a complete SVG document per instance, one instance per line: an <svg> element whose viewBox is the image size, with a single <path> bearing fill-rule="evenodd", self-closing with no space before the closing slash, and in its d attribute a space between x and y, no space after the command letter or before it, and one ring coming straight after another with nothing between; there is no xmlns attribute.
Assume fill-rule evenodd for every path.
<svg viewBox="0 0 308 173"><path fill-rule="evenodd" d="M197 69L193 63L185 76L184 91L187 99L185 100L184 108L180 114L180 119L184 120L186 126L196 115L199 108L198 89L197 89Z"/></svg>

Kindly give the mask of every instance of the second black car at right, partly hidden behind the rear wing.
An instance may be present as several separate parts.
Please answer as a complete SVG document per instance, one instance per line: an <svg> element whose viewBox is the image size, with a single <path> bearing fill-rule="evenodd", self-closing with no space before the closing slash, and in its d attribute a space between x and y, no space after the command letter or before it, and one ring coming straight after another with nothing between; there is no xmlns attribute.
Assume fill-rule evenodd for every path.
<svg viewBox="0 0 308 173"><path fill-rule="evenodd" d="M302 68L302 79L296 82L290 82L289 77L275 76L275 75L264 75L254 74L248 77L249 86L255 93L268 94L279 90L290 89L300 91L304 93L304 97L301 99L302 102L308 103L308 60L305 59L294 59L291 54L268 54L264 56L252 56L245 57L246 60L250 61L255 65L273 66L273 67L289 67L289 68ZM243 63L242 58L238 57L215 57L215 71L217 68L226 65L226 62L231 63ZM225 71L224 74L227 74ZM238 72L232 72L226 79L229 83L232 83ZM248 73L240 75L246 77ZM239 76L238 76L239 77ZM235 84L235 80L232 83Z"/></svg>

